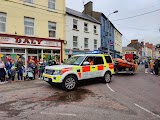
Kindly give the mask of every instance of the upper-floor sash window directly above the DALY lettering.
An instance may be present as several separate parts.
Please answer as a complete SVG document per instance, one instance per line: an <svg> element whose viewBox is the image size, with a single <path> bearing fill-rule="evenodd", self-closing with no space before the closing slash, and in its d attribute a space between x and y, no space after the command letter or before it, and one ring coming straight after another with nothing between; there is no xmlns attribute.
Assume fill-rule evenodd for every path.
<svg viewBox="0 0 160 120"><path fill-rule="evenodd" d="M24 17L25 35L34 35L34 18Z"/></svg>

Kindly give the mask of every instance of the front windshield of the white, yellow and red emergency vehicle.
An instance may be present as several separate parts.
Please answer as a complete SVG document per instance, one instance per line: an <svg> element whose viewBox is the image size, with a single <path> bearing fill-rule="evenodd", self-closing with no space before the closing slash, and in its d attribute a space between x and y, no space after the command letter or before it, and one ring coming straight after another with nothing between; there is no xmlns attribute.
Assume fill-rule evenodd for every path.
<svg viewBox="0 0 160 120"><path fill-rule="evenodd" d="M64 64L66 65L80 65L84 60L85 56L72 56Z"/></svg>

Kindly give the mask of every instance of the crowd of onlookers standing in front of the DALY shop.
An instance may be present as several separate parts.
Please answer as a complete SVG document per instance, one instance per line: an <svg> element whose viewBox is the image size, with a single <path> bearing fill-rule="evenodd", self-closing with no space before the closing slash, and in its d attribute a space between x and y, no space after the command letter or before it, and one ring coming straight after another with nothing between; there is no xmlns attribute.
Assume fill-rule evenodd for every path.
<svg viewBox="0 0 160 120"><path fill-rule="evenodd" d="M58 60L49 60L48 62L42 59L40 59L38 62L29 60L27 68L25 68L24 62L21 58L18 58L17 62L10 57L7 58L5 62L0 58L0 83L15 82L17 79L18 81L22 81L24 80L24 76L28 70L32 71L33 80L36 79L36 75L38 75L40 79L44 72L45 66L56 64L60 64L60 62Z"/></svg>

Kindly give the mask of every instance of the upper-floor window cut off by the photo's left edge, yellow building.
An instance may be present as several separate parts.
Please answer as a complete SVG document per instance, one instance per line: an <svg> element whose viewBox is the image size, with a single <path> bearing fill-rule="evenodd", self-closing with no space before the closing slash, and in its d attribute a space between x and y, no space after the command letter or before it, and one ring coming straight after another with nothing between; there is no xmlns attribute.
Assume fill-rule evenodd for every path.
<svg viewBox="0 0 160 120"><path fill-rule="evenodd" d="M6 13L0 12L0 32L6 32Z"/></svg>

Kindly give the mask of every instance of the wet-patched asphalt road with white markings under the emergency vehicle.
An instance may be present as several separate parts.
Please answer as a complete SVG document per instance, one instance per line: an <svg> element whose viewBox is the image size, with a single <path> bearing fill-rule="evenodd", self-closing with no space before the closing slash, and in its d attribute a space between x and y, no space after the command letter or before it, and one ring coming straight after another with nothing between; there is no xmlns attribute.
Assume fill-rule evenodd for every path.
<svg viewBox="0 0 160 120"><path fill-rule="evenodd" d="M160 78L116 75L112 82L79 83L64 92L41 80L0 85L0 120L160 120Z"/></svg>

